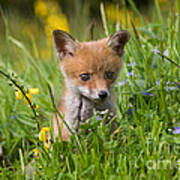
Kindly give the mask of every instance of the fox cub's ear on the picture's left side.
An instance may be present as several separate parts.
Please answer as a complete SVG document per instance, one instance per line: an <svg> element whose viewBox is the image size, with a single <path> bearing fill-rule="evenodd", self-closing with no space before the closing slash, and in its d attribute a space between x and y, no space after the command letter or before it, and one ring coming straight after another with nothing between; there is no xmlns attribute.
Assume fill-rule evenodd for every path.
<svg viewBox="0 0 180 180"><path fill-rule="evenodd" d="M68 33L61 30L53 31L53 41L57 57L61 60L64 56L73 56L80 44Z"/></svg>

